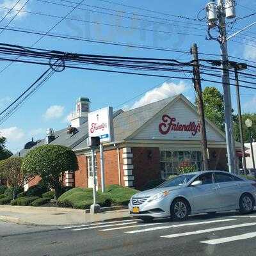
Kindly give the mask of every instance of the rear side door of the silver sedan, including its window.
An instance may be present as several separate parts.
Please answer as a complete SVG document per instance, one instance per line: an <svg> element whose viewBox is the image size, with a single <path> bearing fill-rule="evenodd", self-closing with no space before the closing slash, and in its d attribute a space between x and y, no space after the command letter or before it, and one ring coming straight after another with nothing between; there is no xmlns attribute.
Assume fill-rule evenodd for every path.
<svg viewBox="0 0 256 256"><path fill-rule="evenodd" d="M221 209L234 209L239 200L240 182L233 175L223 172L214 172L214 181L218 184L218 199Z"/></svg>

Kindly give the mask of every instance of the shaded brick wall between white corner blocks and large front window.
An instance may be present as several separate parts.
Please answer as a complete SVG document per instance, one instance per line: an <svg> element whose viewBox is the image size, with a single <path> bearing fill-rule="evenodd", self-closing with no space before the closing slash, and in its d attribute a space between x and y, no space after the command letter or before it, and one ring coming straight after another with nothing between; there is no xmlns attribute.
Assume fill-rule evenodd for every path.
<svg viewBox="0 0 256 256"><path fill-rule="evenodd" d="M132 148L134 188L142 189L150 180L160 179L159 148Z"/></svg>

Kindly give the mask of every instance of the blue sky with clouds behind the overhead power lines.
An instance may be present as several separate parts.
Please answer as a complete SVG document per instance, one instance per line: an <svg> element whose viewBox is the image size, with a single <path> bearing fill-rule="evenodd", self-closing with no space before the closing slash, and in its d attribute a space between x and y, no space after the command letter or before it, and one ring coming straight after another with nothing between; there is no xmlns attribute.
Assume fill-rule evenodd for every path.
<svg viewBox="0 0 256 256"><path fill-rule="evenodd" d="M6 13L6 9L12 8L18 0L0 0L0 17ZM45 0L52 3L66 4L75 6L76 4L67 3L61 0ZM79 3L79 0L69 0L74 3ZM110 1L110 0L109 0ZM25 0L20 0L20 3L15 7L19 10ZM200 52L219 54L220 47L217 42L205 40L206 27L205 22L191 22L186 19L178 19L168 15L182 15L184 17L196 17L196 14L204 8L207 1L204 0L180 0L180 1L134 1L134 0L113 0L118 4L106 3L102 0L84 1L87 6L82 8L87 10L75 10L68 17L72 19L86 20L90 22L79 22L74 20L63 20L52 33L61 33L65 35L81 36L84 38L93 38L107 40L113 42L124 42L125 44L140 44L150 45L154 47L168 47L172 49L180 49L188 51L191 44L196 42ZM249 0L239 0L238 4L248 6L256 11L256 3ZM139 8L147 8L154 12L146 12L136 8L129 8L119 4L128 4ZM89 5L89 6L88 6ZM2 9L1 9L2 8ZM134 13L127 14L121 12L113 12L104 10L108 8L121 12ZM26 12L40 12L50 15L65 16L72 8L60 6L57 4L45 3L44 1L29 0L23 9ZM101 13L97 13L97 12ZM105 13L102 13L105 12ZM106 15L106 12L115 15ZM237 17L244 17L253 10L246 10L240 5L237 5ZM8 24L15 12L10 13L4 19L0 26ZM118 16L119 15L119 16ZM126 19L123 16L135 17L136 19ZM157 19L150 17L141 17L140 15L154 16ZM204 16L204 12L202 12ZM256 16L247 19L237 20L235 28L243 28L247 24L255 21ZM143 20L152 20L154 22L146 22ZM164 20L165 19L165 20ZM1 19L0 19L1 20ZM47 31L60 19L45 17L42 15L34 15L31 13L21 12L12 21L9 26L15 28L26 28L39 31ZM176 21L170 21L176 20ZM115 24L117 26L129 26L132 28L148 29L154 31L136 30L117 28L95 24L92 22L100 22L104 24ZM156 23L158 22L158 23ZM164 25L159 23L169 23L172 25ZM175 25L179 25L179 27ZM173 26L174 25L174 26ZM255 33L256 26L248 29L248 32ZM202 30L200 30L202 29ZM189 33L191 36L173 35L172 33L161 33L156 31L167 31L177 33ZM194 35L200 36L194 36ZM251 34L253 36L254 34ZM255 36L255 35L254 35ZM3 31L0 34L0 42L7 44L18 44L31 46L39 38L38 35L22 34L13 31ZM254 44L246 40L248 38L240 36L236 38L237 42L229 42L228 50L230 56L246 58L256 61L256 48L246 44ZM252 39L252 38L251 38ZM242 44L241 44L242 43ZM52 38L45 36L35 47L45 49L55 49L67 52L83 52L85 54L111 54L121 56L141 56L152 58L175 58L180 60L191 60L189 54L180 54L177 52L154 51L148 49L136 49L131 47L120 47L106 44L94 44L90 42L82 42L76 40L67 40L63 38ZM211 58L210 56L201 56L202 58ZM216 57L214 57L216 58ZM1 68L8 63L1 62ZM25 90L35 79L46 70L47 67L37 65L14 63L4 72L0 74L0 110L8 103L12 102L21 92ZM252 71L248 71L252 72ZM184 76L184 74L168 73L168 76ZM130 76L124 74L110 74L102 72L93 72L86 70L65 70L54 74L51 79L36 92L19 110L3 125L0 126L0 132L8 138L8 148L13 152L20 150L26 141L29 141L33 136L35 140L42 138L45 135L47 127L52 127L55 130L62 129L68 125L67 116L71 111L74 111L77 97L89 97L92 104L91 109L99 109L105 106L116 106L124 108L134 108L147 104L152 100L163 99L174 93L184 93L191 101L194 101L195 93L191 81L170 79L168 83L164 83L163 78L157 77L141 77ZM159 84L159 87L153 90ZM203 83L204 86L212 84ZM217 86L221 91L221 86ZM149 90L147 95L143 94ZM232 88L233 108L236 109L235 90ZM130 100L137 95L134 100ZM254 90L241 89L241 101L243 111L255 112L256 93ZM126 101L129 102L125 103Z"/></svg>

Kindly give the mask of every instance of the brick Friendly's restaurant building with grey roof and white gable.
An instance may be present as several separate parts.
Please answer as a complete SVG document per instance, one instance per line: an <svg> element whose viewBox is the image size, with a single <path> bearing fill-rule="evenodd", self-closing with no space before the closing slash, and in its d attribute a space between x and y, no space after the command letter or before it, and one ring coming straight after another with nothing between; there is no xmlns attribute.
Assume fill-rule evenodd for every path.
<svg viewBox="0 0 256 256"><path fill-rule="evenodd" d="M66 186L93 186L92 157L87 145L90 100L76 102L70 127L47 131L46 138L29 141L17 153L25 156L38 145L58 144L72 148L79 170L65 173ZM140 108L113 113L115 141L104 144L105 183L141 189L150 180L166 179L183 163L202 170L201 127L196 107L180 94ZM99 124L102 125L102 124ZM206 120L209 164L211 170L227 170L225 134ZM239 153L239 145L236 145ZM95 166L100 187L100 154L96 150ZM38 183L36 177L26 186Z"/></svg>

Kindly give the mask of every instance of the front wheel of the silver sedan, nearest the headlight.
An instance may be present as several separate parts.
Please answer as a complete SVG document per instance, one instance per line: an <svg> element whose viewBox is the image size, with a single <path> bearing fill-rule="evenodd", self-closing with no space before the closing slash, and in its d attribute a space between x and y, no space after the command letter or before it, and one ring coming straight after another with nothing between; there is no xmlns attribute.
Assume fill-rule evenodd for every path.
<svg viewBox="0 0 256 256"><path fill-rule="evenodd" d="M173 220L183 221L188 218L189 205L186 200L177 199L171 205L171 218Z"/></svg>

